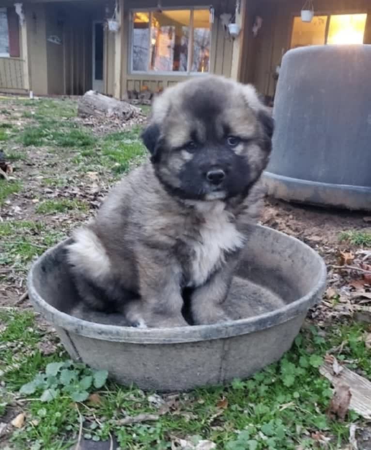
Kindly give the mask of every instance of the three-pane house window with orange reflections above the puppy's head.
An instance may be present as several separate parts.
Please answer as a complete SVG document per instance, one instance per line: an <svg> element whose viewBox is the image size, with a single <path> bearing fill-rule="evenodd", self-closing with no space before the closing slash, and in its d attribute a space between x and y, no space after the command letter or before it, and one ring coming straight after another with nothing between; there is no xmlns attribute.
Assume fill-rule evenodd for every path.
<svg viewBox="0 0 371 450"><path fill-rule="evenodd" d="M208 72L211 30L208 9L133 13L134 72Z"/></svg>

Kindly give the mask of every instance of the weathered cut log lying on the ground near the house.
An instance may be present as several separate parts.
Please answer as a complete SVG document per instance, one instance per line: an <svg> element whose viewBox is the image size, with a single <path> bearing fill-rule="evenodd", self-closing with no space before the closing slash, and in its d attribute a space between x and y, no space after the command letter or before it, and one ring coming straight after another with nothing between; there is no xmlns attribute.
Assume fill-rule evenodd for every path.
<svg viewBox="0 0 371 450"><path fill-rule="evenodd" d="M140 116L142 113L139 108L127 101L116 100L91 90L78 100L77 114L80 117L113 116L125 121Z"/></svg>

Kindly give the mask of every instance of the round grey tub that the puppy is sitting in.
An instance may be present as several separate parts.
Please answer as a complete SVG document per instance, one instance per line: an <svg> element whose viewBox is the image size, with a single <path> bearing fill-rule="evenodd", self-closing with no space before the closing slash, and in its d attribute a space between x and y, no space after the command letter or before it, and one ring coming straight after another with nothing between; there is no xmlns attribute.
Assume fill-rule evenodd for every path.
<svg viewBox="0 0 371 450"><path fill-rule="evenodd" d="M115 314L72 316L79 299L65 263L68 241L31 268L30 299L73 359L107 369L119 383L171 391L247 378L289 350L326 280L322 258L301 241L262 226L250 233L225 303L230 322L137 329L120 326Z"/></svg>

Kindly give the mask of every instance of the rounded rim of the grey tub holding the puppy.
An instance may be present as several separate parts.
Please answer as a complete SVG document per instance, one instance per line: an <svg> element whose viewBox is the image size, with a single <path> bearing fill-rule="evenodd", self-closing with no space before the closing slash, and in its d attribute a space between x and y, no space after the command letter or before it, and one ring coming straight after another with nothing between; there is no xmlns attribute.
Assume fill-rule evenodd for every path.
<svg viewBox="0 0 371 450"><path fill-rule="evenodd" d="M254 317L248 317L239 320L230 320L224 323L212 325L193 325L187 327L173 328L146 328L139 329L134 327L124 327L119 325L108 325L96 322L89 322L69 314L59 311L51 306L37 292L33 279L36 267L41 261L50 254L62 247L70 238L64 239L55 246L46 250L32 264L27 277L27 288L31 303L35 309L42 314L46 320L53 326L64 329L67 332L76 333L84 337L90 337L99 340L111 342L126 342L131 344L180 344L186 342L201 342L214 339L225 339L242 334L263 331L267 328L282 324L284 322L306 313L313 306L325 291L327 269L322 257L309 245L299 239L289 236L263 225L254 225L254 229L269 230L271 233L277 233L284 236L285 239L294 240L299 245L304 246L312 257L319 264L319 279L309 292L274 311L266 312Z"/></svg>

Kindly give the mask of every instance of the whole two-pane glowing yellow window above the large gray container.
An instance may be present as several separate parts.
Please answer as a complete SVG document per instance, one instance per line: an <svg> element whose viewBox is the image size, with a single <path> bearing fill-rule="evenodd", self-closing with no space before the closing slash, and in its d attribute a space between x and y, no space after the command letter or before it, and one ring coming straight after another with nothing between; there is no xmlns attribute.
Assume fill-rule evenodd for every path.
<svg viewBox="0 0 371 450"><path fill-rule="evenodd" d="M315 16L311 22L294 17L291 48L306 45L362 44L367 14Z"/></svg>

